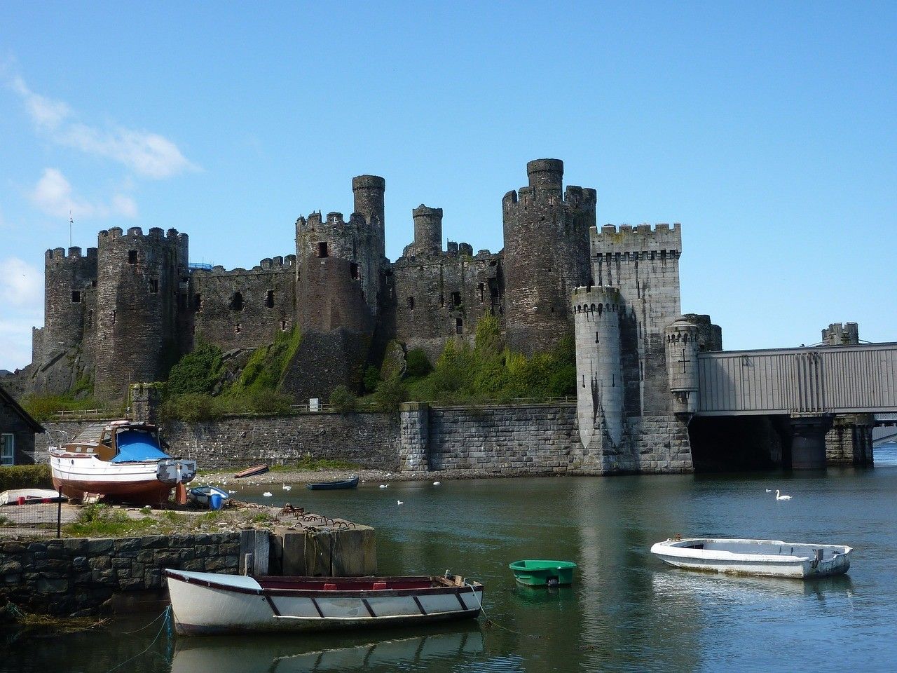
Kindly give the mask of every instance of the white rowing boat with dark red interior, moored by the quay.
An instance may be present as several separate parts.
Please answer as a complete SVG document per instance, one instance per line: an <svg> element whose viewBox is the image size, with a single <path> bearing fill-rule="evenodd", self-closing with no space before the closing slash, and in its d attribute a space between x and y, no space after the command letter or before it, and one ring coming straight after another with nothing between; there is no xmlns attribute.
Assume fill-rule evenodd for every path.
<svg viewBox="0 0 897 673"><path fill-rule="evenodd" d="M460 575L249 577L165 569L179 634L330 631L479 616L483 585Z"/></svg>

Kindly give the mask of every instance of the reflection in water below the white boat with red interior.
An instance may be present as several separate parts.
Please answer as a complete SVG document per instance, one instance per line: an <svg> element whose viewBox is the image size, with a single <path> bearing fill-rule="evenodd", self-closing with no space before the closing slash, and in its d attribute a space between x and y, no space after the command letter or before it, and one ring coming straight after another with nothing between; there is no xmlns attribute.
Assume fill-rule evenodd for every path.
<svg viewBox="0 0 897 673"><path fill-rule="evenodd" d="M318 673L350 670L429 670L440 662L465 660L483 652L478 628L448 634L383 637L347 647L309 649L306 638L179 638L171 673Z"/></svg>

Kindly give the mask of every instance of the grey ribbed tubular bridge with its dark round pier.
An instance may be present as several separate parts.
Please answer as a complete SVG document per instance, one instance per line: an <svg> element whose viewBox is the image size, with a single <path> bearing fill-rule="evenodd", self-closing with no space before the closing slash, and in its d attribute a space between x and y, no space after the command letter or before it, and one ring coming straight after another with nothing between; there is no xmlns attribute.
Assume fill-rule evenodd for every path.
<svg viewBox="0 0 897 673"><path fill-rule="evenodd" d="M787 415L794 468L825 466L834 415L897 418L897 343L699 353L696 373L695 415Z"/></svg>

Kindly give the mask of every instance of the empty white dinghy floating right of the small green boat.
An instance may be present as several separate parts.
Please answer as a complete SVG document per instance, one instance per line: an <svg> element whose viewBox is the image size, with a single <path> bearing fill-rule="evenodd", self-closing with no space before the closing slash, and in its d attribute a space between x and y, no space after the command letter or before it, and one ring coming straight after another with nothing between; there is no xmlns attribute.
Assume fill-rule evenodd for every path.
<svg viewBox="0 0 897 673"><path fill-rule="evenodd" d="M807 579L847 572L853 549L736 538L668 539L651 547L666 564L687 570Z"/></svg>

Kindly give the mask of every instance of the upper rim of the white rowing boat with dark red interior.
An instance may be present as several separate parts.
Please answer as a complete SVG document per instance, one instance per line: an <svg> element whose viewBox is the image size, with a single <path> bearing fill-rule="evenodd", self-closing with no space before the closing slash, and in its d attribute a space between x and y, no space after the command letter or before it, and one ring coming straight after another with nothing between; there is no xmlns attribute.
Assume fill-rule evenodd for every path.
<svg viewBox="0 0 897 673"><path fill-rule="evenodd" d="M359 590L326 590L326 589L266 589L265 587L259 584L258 589L253 587L239 587L233 584L227 584L225 582L219 581L210 581L205 580L199 577L192 577L189 575L183 574L188 571L177 571L172 570L170 568L165 568L162 570L162 575L169 579L174 579L177 581L183 581L187 584L196 584L198 586L207 587L209 589L218 589L223 591L231 591L233 593L245 593L251 594L254 596L292 596L296 598L367 598L369 595L372 598L376 597L392 597L392 596L418 596L418 595L430 595L436 596L441 594L460 594L467 593L467 589L471 592L483 591L483 584L478 581L466 581L464 584L457 586L441 586L441 587L422 587L419 589L359 589ZM227 575L225 575L226 577ZM232 577L239 577L239 575L231 575ZM303 579L309 581L322 581L324 579L335 579L335 580L345 580L347 578L321 578L321 577L300 577L296 576L295 578L290 577L279 577L274 575L277 580L289 580L289 579ZM256 580L257 578L251 578ZM266 579L266 577L259 577L258 579ZM369 578L365 577L365 580L369 580ZM403 576L403 577L370 577L370 583L375 581L388 581L388 580L418 580L418 581L435 581L433 575L411 575L411 576Z"/></svg>

